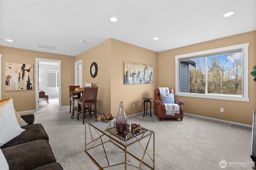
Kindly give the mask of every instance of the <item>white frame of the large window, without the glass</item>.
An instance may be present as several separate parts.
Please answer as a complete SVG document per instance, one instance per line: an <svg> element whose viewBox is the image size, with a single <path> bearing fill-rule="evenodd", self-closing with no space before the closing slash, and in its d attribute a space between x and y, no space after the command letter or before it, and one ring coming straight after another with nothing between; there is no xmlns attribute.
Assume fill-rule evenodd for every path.
<svg viewBox="0 0 256 170"><path fill-rule="evenodd" d="M248 98L248 47L249 43L239 44L239 45L232 45L228 47L221 47L216 49L210 49L205 51L199 51L194 53L188 53L183 55L176 55L175 56L175 95L176 96L187 96L187 97L195 97L195 98L210 98L210 99L220 99L220 100L234 100L234 101L243 101L249 102ZM195 93L186 93L180 92L179 90L179 75L180 75L180 68L179 68L179 61L180 59L190 59L191 57L196 57L200 55L207 55L210 53L218 53L221 51L230 51L235 49L242 49L242 95L228 95L228 94L195 94Z"/></svg>

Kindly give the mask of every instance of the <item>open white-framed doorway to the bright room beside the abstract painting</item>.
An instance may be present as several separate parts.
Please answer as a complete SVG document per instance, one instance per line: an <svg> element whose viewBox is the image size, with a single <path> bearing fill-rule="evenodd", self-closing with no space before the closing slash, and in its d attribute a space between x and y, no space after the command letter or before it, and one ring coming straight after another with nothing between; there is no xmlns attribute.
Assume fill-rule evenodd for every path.
<svg viewBox="0 0 256 170"><path fill-rule="evenodd" d="M55 82L54 82L55 81ZM61 61L36 58L36 111L39 109L39 90L49 98L58 98L61 107Z"/></svg>

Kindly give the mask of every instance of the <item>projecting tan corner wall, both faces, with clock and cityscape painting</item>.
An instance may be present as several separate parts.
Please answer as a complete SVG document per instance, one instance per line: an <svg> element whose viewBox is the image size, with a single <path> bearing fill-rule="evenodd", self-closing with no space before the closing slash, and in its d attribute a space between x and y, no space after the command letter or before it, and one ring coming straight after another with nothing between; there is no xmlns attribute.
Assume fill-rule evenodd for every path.
<svg viewBox="0 0 256 170"><path fill-rule="evenodd" d="M112 113L117 115L119 102L124 102L126 115L143 111L143 97L153 98L157 78L153 84L124 84L124 62L149 64L154 66L154 75L157 74L157 53L135 45L124 43L116 39L107 41L85 51L75 57L83 63L83 80L98 86L97 109L98 114ZM98 74L90 76L92 62L98 65ZM141 106L138 103L141 102ZM132 104L135 107L132 108ZM153 105L152 105L153 108Z"/></svg>

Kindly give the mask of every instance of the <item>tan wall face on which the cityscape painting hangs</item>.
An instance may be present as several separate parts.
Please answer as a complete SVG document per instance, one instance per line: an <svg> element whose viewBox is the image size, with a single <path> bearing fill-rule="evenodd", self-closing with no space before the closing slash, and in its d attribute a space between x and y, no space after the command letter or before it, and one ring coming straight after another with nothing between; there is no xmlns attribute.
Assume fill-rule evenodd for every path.
<svg viewBox="0 0 256 170"><path fill-rule="evenodd" d="M126 115L144 111L144 100L142 98L154 98L154 90L157 88L157 53L116 39L111 39L111 62L112 114L117 115L120 101L124 102ZM153 83L124 84L124 62L152 65L154 69ZM151 101L153 108L153 100ZM138 106L139 102L141 106ZM135 104L134 108L132 104Z"/></svg>

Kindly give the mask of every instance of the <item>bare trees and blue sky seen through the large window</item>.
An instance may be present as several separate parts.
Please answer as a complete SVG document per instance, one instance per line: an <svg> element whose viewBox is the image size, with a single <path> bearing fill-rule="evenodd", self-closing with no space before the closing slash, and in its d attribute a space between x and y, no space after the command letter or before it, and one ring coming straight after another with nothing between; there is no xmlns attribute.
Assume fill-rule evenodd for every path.
<svg viewBox="0 0 256 170"><path fill-rule="evenodd" d="M189 93L242 95L242 52L190 61L195 66L189 64Z"/></svg>

